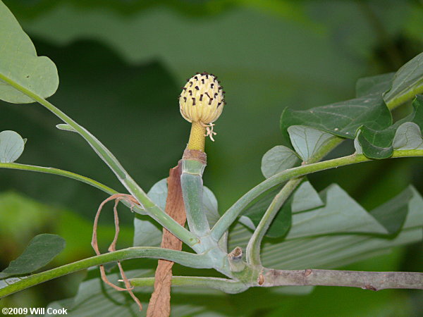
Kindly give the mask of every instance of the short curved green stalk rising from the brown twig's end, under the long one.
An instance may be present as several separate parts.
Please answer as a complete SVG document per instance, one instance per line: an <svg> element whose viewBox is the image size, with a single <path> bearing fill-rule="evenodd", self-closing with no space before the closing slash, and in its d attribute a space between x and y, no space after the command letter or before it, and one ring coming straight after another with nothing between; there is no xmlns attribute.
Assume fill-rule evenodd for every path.
<svg viewBox="0 0 423 317"><path fill-rule="evenodd" d="M264 213L262 219L257 225L257 228L252 234L250 241L248 242L247 249L245 251L248 263L252 264L253 266L262 265L262 261L260 259L260 246L262 244L264 234L269 229L271 222L274 220L279 209L281 209L281 206L285 204L286 199L290 197L290 194L293 193L301 181L302 178L293 178L292 180L289 180L271 201L269 208Z"/></svg>

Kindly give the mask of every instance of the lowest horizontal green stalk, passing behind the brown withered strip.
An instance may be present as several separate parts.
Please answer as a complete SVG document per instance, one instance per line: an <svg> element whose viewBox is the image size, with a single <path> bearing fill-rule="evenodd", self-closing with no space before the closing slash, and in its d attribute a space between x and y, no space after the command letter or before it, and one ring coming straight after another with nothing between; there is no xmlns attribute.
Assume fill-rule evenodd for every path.
<svg viewBox="0 0 423 317"><path fill-rule="evenodd" d="M130 284L135 287L146 287L154 285L154 278L131 278ZM237 294L244 292L248 286L238 280L229 280L227 278L204 278L197 276L173 276L172 286L185 287L209 287L214 290L220 290L227 294Z"/></svg>

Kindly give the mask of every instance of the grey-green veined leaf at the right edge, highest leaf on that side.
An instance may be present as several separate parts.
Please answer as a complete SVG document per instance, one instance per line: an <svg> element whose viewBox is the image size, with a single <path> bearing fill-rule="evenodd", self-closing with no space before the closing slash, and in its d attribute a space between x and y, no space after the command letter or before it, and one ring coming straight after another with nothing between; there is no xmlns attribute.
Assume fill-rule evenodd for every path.
<svg viewBox="0 0 423 317"><path fill-rule="evenodd" d="M386 104L398 99L406 101L423 92L423 53L405 63L393 77L392 87L384 94Z"/></svg>

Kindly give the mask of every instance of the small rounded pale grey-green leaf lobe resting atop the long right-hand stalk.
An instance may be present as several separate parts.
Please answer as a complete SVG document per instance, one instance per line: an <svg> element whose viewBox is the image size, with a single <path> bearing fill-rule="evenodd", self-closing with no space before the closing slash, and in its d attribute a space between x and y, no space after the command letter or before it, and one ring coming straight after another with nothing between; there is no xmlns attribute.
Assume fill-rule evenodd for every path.
<svg viewBox="0 0 423 317"><path fill-rule="evenodd" d="M298 163L298 156L295 152L283 145L276 145L266 151L262 158L262 173L269 178L282 170L292 168Z"/></svg>

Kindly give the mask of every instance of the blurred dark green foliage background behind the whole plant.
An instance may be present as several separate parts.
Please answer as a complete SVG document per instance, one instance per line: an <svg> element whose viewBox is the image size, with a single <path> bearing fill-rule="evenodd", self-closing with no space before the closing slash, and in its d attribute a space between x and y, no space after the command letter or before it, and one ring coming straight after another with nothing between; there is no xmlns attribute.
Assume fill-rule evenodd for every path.
<svg viewBox="0 0 423 317"><path fill-rule="evenodd" d="M204 70L218 75L228 104L216 122L216 142L206 144L204 183L216 194L221 213L263 180L263 154L282 143L283 108L351 99L358 78L395 71L423 51L418 0L4 3L38 54L56 63L61 83L49 100L102 140L145 190L166 177L188 141L190 124L180 117L177 100L185 79ZM87 144L57 130L59 120L43 108L1 101L0 106L1 130L28 138L19 162L71 170L123 191ZM394 116L406 112L400 108ZM350 152L351 144L336 151L331 155ZM410 182L422 193L422 166L417 159L384 161L309 179L317 189L338 182L372 208ZM53 175L0 173L0 268L42 232L67 241L52 266L93 254L91 223L104 193ZM132 242L132 217L121 213L121 247ZM114 232L111 219L104 213L104 243ZM422 271L422 246L348 268ZM46 306L73 296L83 276L46 282L0 304ZM224 295L222 303L234 316L423 316L422 292L318 287L304 297L266 296L266 290L249 291Z"/></svg>

